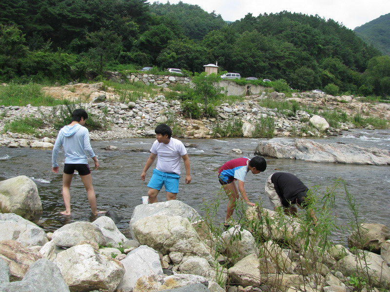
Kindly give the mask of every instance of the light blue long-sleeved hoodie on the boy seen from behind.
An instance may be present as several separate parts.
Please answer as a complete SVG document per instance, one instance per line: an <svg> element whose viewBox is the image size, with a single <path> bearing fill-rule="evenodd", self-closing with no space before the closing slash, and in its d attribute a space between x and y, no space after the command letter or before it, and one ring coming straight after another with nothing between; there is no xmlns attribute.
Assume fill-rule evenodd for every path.
<svg viewBox="0 0 390 292"><path fill-rule="evenodd" d="M80 124L65 126L59 130L52 153L53 167L58 166L57 157L61 145L64 148L66 164L88 164L85 152L89 157L95 156L89 142L89 131Z"/></svg>

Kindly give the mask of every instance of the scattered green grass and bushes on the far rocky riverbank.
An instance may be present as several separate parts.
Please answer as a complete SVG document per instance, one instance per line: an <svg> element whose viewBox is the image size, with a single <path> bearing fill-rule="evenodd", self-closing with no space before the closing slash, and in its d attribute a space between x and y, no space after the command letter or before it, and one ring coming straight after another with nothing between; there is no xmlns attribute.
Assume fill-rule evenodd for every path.
<svg viewBox="0 0 390 292"><path fill-rule="evenodd" d="M173 133L176 136L183 136L183 128L177 119L177 115L182 115L187 119L202 120L208 119L214 121L210 135L215 138L219 137L242 137L243 136L243 121L240 118L231 117L225 121L221 121L217 107L225 105L233 105L245 101L244 96L225 96L221 94L221 89L215 86L220 80L218 75L212 75L214 78L209 78L205 73L195 74L194 81L191 85L175 85L171 90L153 85L145 85L143 82L135 83L119 83L109 80L102 82L102 90L115 92L117 102L128 104L129 102L139 102L149 98L154 98L158 95L164 95L164 99L168 102L180 102L180 111L167 111L163 115L167 117L167 124L173 128ZM205 82L207 79L208 82ZM70 88L72 90L72 88ZM269 90L272 91L271 89ZM297 95L299 97L299 95ZM18 99L18 103L14 103L14 98ZM83 97L84 98L84 97ZM88 98L88 96L85 96ZM326 100L326 98L325 98ZM112 100L114 101L114 100ZM20 120L12 121L3 128L3 132L16 132L25 134L36 134L37 129L45 126L41 125L41 120L50 121L55 129L59 129L63 125L71 122L71 113L76 108L83 108L84 99L81 98L69 101L66 99L54 99L42 91L42 86L34 83L19 85L12 83L7 86L0 87L0 104L4 106L49 106L53 107L53 114L50 116L42 115L40 117L23 117ZM343 105L344 103L341 103ZM347 102L348 104L348 102ZM207 105L207 106L206 106ZM351 123L355 127L363 128L371 125L374 128L388 128L387 120L373 117L365 112L356 112L347 114L346 111L340 109L329 109L323 105L314 105L312 103L298 103L295 99L273 99L273 98L258 98L256 101L258 109L272 110L274 113L285 116L287 119L296 119L302 112L310 115L318 114L324 117L332 128L340 128L342 124ZM298 115L299 112L299 115ZM107 109L103 108L102 113L107 116ZM7 110L2 112L0 119L7 114ZM308 122L310 116L300 116L301 122ZM306 120L305 120L306 119ZM261 114L256 121L252 122L254 126L253 137L272 138L275 130L275 123L272 116ZM98 119L93 114L90 114L86 126L90 130L106 130L111 126L105 118ZM129 126L131 127L131 126ZM35 130L34 130L35 128ZM295 128L292 126L290 135L301 136L302 133L308 136L315 133L315 128L308 123L306 127ZM42 132L40 131L42 134ZM45 133L49 136L53 133Z"/></svg>

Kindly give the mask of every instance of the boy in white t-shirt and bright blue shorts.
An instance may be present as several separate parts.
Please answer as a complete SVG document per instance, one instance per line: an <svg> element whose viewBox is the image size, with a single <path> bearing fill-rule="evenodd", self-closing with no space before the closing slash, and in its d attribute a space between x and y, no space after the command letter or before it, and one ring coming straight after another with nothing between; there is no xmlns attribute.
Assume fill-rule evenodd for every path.
<svg viewBox="0 0 390 292"><path fill-rule="evenodd" d="M180 157L183 159L186 168L186 183L191 183L190 159L183 143L172 138L172 129L168 125L158 125L155 132L157 140L150 149L150 156L141 174L141 179L145 181L146 171L158 156L156 168L153 169L152 178L148 183L149 203L158 201L157 195L163 185L165 185L167 192L167 201L176 200L179 191Z"/></svg>

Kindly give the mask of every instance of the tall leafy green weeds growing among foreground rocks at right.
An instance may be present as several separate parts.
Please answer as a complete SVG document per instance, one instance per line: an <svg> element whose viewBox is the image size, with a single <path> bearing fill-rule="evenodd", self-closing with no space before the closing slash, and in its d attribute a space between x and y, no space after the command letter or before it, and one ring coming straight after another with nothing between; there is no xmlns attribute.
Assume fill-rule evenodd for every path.
<svg viewBox="0 0 390 292"><path fill-rule="evenodd" d="M369 230L362 227L365 220L346 183L337 179L323 193L313 186L308 192L308 199L307 209L298 210L294 218L286 216L281 208L275 212L263 208L261 198L260 204L255 207L247 207L245 202L237 201L227 234L227 228L220 223L223 219L217 218L220 202L227 200L221 191L217 200L204 201L200 206L202 217L197 230L212 250L215 260L225 269L233 267L251 253L250 250L258 252L253 263L245 257L247 268L243 264L240 266L240 272L246 273L245 277L233 277L233 280L239 278L240 282L252 287L286 291L294 286L302 291L322 291L324 286L335 285L347 291L387 291L389 283L375 275L381 274L381 271L375 272L370 268L372 262L367 253L367 250L372 251L372 247L367 245ZM344 200L348 206L343 214L349 219L345 225L337 222L337 214L333 210L336 200ZM311 211L316 215L315 223L309 215ZM351 235L348 242L344 237L333 241L334 234L340 233ZM255 246L249 247L253 241ZM355 257L355 267L343 268L340 265L339 260L347 255ZM290 278L292 274L296 277L294 280ZM217 282L218 276L223 278L223 269L217 269ZM222 280L219 283L222 284ZM228 285L234 285L234 281Z"/></svg>

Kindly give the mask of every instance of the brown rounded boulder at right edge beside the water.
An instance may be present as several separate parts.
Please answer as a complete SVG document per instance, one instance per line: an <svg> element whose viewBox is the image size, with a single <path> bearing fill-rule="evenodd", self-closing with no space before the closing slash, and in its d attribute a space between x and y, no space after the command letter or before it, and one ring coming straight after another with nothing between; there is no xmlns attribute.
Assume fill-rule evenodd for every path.
<svg viewBox="0 0 390 292"><path fill-rule="evenodd" d="M348 245L379 254L382 244L388 239L390 239L390 229L386 225L363 223L359 231L353 232L348 237Z"/></svg>

